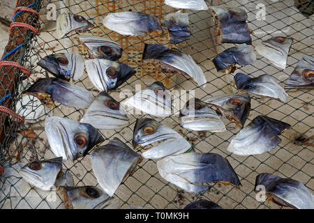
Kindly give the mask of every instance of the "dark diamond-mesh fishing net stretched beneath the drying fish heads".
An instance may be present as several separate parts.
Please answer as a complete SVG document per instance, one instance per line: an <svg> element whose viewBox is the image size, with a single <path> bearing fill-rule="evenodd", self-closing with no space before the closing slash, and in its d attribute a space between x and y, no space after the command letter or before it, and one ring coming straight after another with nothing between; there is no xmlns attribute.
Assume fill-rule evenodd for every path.
<svg viewBox="0 0 314 223"><path fill-rule="evenodd" d="M257 55L257 61L252 65L239 68L237 72L244 72L252 77L269 74L283 86L304 54L313 56L313 1L267 0L258 1L257 4L256 1L226 0L206 1L206 3L208 6L227 4L244 8L248 13L248 26L253 30L251 36L254 46L261 40L272 36L290 36L294 39L285 70L276 68L267 59ZM33 35L33 31L24 27L13 28L10 33L10 47L6 48L5 53L22 44L6 60L16 61L24 68L31 70L31 75L24 75L19 68L14 66L1 67L1 97L9 95L1 102L1 105L17 112L25 119L25 122L21 123L14 116L10 116L6 112L1 113L0 165L5 169L4 174L0 177L1 208L64 208L63 198L56 190L50 192L38 190L25 183L18 171L22 162L54 157L44 130L44 120L47 116L66 117L80 121L84 110L66 107L58 103L53 109L47 109L36 98L28 95L24 97L23 91L37 79L50 75L37 65L37 62L48 54L79 52L84 59L88 59L84 47L75 38L78 35L89 34L116 41L124 49L120 61L137 70L135 77L128 79L119 89L111 93L112 97L119 102L124 100L123 90L129 89L135 93L136 84L141 84L144 89L155 79L162 81L166 88L170 89L174 98L179 98L181 107L188 100L189 93L193 91L195 96L201 100L209 96L232 93L230 89L232 75L228 77L222 72L216 72L211 60L224 49L234 45L218 43L218 38L214 36L214 22L210 10L186 10L191 29L190 40L179 45L170 45L167 31L160 36L128 37L110 31L102 25L103 17L111 12L133 10L149 13L161 19L168 13L177 11L165 6L162 0L18 0L17 2L17 6L29 6L30 4L34 4L31 7L33 10L40 11L39 22L36 22L34 13L27 12L17 15L15 22L24 22L37 28L40 27L39 35ZM57 38L54 13L59 15L63 11L82 15L94 24L94 28L89 29L86 33L73 32L64 38ZM207 78L206 87L198 87L183 75L164 74L156 66L143 65L141 57L144 43L159 43L170 48L177 47L186 54L190 54L204 71ZM98 95L97 89L89 81L86 72L75 84L84 86L94 95ZM189 91L186 92L184 89ZM281 134L281 143L262 155L238 156L227 151L231 139L239 132L239 129L234 128L232 123L226 125L227 131L225 132L193 132L181 128L179 113L176 110L170 117L156 118L160 123L172 127L183 135L193 146L193 151L218 153L226 157L241 180L243 186L240 189L236 189L232 185L214 183L209 185L209 192L190 194L161 178L156 168L156 161L143 160L136 171L121 183L114 197L119 199L121 207L183 208L191 201L209 199L223 208L281 208L274 203L260 202L255 198L255 177L264 172L299 180L313 194L313 90L290 90L287 93L289 97L287 97L286 103L265 98L252 98L252 110L246 124L258 115L267 115L291 125L289 130ZM25 109L26 107L31 107L31 112L28 114L25 114L25 111L29 111L29 109ZM135 121L141 116L128 114L130 125L121 130L100 130L106 139L103 144L118 137L132 147ZM91 168L89 155L74 162L70 160L63 162L63 169L70 171L75 185L99 187Z"/></svg>

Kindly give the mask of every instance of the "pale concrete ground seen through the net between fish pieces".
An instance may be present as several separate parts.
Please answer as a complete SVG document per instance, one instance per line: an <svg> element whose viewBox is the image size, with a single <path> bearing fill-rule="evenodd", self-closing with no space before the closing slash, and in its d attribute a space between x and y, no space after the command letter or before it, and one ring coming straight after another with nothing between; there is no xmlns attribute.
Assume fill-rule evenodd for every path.
<svg viewBox="0 0 314 223"><path fill-rule="evenodd" d="M97 15L94 6L96 1L80 1L77 6L70 7L73 12L80 13L82 8L85 13L80 13L86 17L91 18L91 22L94 24L100 24L103 15L106 15L106 8L104 5L99 6L103 15ZM97 1L98 2L98 1ZM132 2L133 1L128 1ZM239 68L237 72L245 72L253 77L257 77L262 74L269 74L276 79L276 81L284 86L286 79L290 76L292 70L296 66L299 59L303 54L313 56L313 16L309 18L303 17L298 13L297 9L293 7L293 1L279 1L278 4L271 3L272 1L264 1L267 6L267 20L257 21L255 15L254 1L244 4L242 1L230 1L232 6L241 6L249 10L248 21L249 26L253 29L253 46L257 45L260 40L266 40L271 36L291 36L294 38L294 43L290 49L290 54L287 59L287 68L280 70L275 68L267 59L257 55L257 61L252 66L246 66ZM124 6L124 10L133 9L142 11L140 4L134 3L133 6ZM163 7L163 15L169 13L172 9ZM156 11L154 11L156 13ZM217 44L212 37L213 27L211 13L209 11L188 11L190 19L190 28L192 36L188 43L185 45L179 45L179 48L190 54L193 59L201 66L207 78L207 86L204 89L197 88L193 82L181 75L172 75L170 80L167 79L165 84L169 84L170 87L174 86L171 90L175 89L195 89L195 95L197 98L204 99L215 95L221 95L226 93L232 93L230 91L229 82L226 75L216 72L214 64L211 59L216 56L217 53L227 49L232 45L229 44ZM6 43L1 32L6 33L6 27L3 30L0 29L0 43ZM47 31L49 29L49 31ZM119 42L124 47L124 56L121 61L125 61L130 66L137 69L137 75L135 78L128 80L126 84L121 86L118 91L111 93L112 97L116 100L123 102L124 98L121 98L121 91L124 89L130 89L135 91L135 84L142 84L142 86L150 84L152 78L149 75L157 78L164 79L165 76L158 72L154 66L142 66L140 61L141 50L133 50L136 47L142 47L142 39L140 38L121 38L119 35L108 31L104 26L97 26L91 29L89 34L96 36L103 36L105 38L112 38ZM106 33L109 33L108 35ZM76 33L72 33L69 38L63 38L62 40L56 40L56 32L54 31L54 23L50 22L49 27L43 27L41 35L38 37L35 49L29 56L34 64L34 72L26 84L31 84L39 77L44 77L45 72L38 66L36 62L46 54L52 54L55 52L64 52L64 49L80 52L85 59L87 59L86 51L82 46L77 45L75 40ZM145 43L165 43L167 36L160 38L148 38ZM1 47L4 44L1 44ZM147 75L149 74L149 75ZM80 79L80 82L76 84L84 86L87 89L91 89L94 95L98 94L98 91L89 81L86 72L84 77ZM281 121L285 121L292 125L292 128L286 130L281 134L281 143L272 149L268 153L262 155L251 155L248 157L241 157L234 155L227 151L227 146L237 132L238 128L234 128L234 125L224 119L223 121L227 125L226 132L189 132L179 125L180 120L177 114L173 114L168 118L156 118L161 123L168 125L174 130L177 130L180 134L190 141L194 146L195 152L203 153L218 153L226 157L230 164L238 174L241 184L243 185L239 190L232 187L232 185L223 185L221 183L211 184L209 192L204 194L190 194L180 190L179 187L168 183L166 180L160 177L158 170L156 169L156 160L143 160L143 162L137 167L135 173L129 176L124 183L121 183L118 190L115 192L114 197L121 201L121 207L126 206L140 206L144 208L184 208L187 203L195 201L197 199L206 198L218 203L223 208L281 208L274 203L260 202L255 199L254 183L257 174L264 172L277 174L278 176L285 178L293 178L304 183L308 190L313 194L314 192L314 168L313 168L313 144L308 146L299 146L294 144L293 140L303 134L306 137L312 137L313 132L313 90L300 90L300 91L287 91L287 102L279 102L277 100L270 99L252 99L252 111L246 121L246 125L253 120L257 115L266 114L271 118L276 118ZM184 100L185 95L181 95L181 100ZM182 103L181 107L184 105ZM79 121L84 110L73 109L63 105L57 105L48 116L66 116L67 118L73 118ZM119 137L122 141L126 142L128 146L131 145L133 128L136 118L140 115L128 114L130 118L130 125L121 130L101 130L105 137L107 144L110 139ZM49 144L47 143L47 137L44 131L44 122L39 121L34 124L29 124L26 128L31 128L36 132L38 137L29 141L20 136L19 140L11 146L11 150L14 151L16 146L24 145L22 154L23 162L27 162L33 156L33 148L36 148L36 153L40 158L49 159L54 157L50 151ZM28 141L27 143L24 143ZM311 141L311 140L310 140ZM140 151L138 151L140 153ZM19 167L15 167L19 169ZM66 161L63 162L63 169L70 171L73 174L75 185L95 185L98 186L97 180L94 177L94 173L91 169L91 162L89 155L79 159L75 162ZM8 193L11 188L10 197L4 203L3 208L64 208L61 197L50 201L44 197L49 197L49 192L43 192L30 187L27 183L24 183L18 176L17 171L10 169L8 176L11 176L10 183L6 184L6 192ZM14 177L12 177L14 176ZM14 185L12 187L11 185ZM25 199L22 199L25 197ZM0 191L1 198L1 191ZM0 199L1 201L1 199Z"/></svg>

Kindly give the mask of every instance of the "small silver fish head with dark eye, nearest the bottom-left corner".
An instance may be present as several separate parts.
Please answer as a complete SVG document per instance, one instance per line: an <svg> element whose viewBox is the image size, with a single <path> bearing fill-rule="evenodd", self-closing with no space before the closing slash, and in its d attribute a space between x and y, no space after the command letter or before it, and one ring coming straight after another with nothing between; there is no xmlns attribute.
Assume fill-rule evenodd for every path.
<svg viewBox="0 0 314 223"><path fill-rule="evenodd" d="M56 183L57 176L62 169L62 157L50 160L33 161L20 169L20 175L27 183L50 190Z"/></svg>

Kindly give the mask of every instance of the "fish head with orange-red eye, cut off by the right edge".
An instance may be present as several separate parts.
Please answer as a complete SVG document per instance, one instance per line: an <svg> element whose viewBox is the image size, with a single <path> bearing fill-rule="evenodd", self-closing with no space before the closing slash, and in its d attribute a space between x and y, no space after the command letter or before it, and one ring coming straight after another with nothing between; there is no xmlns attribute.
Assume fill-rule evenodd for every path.
<svg viewBox="0 0 314 223"><path fill-rule="evenodd" d="M314 57L305 55L285 83L285 89L314 89Z"/></svg>

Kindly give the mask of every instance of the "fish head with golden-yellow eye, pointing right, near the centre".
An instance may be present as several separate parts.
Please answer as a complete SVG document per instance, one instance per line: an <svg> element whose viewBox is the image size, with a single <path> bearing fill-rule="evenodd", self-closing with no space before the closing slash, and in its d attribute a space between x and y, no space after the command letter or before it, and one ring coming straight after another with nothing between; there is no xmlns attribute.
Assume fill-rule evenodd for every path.
<svg viewBox="0 0 314 223"><path fill-rule="evenodd" d="M153 118L140 118L135 123L133 146L144 148L149 144L161 143L166 139L177 139L178 134L172 128L160 124Z"/></svg>

